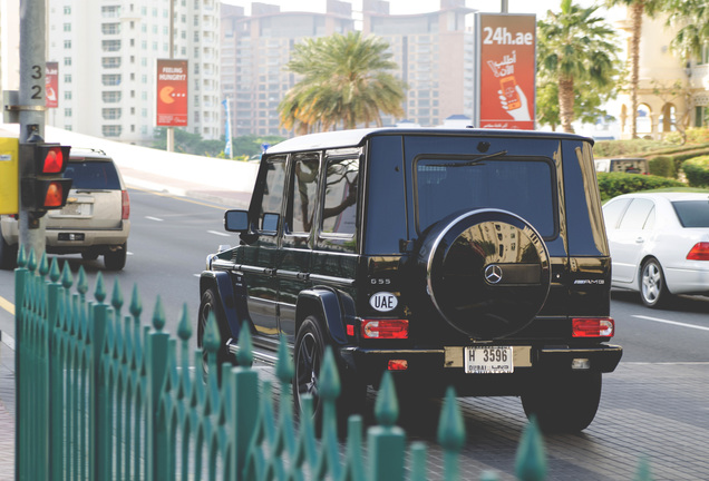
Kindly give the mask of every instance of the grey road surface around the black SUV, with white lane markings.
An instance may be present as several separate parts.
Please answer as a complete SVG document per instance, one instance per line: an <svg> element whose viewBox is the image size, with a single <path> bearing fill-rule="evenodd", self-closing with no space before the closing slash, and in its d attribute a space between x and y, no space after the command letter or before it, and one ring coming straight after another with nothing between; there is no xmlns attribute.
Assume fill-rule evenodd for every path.
<svg viewBox="0 0 709 481"><path fill-rule="evenodd" d="M223 230L224 205L139 189L129 193L129 257L117 275L104 272L107 287L119 279L128 304L137 283L144 323L159 294L166 328L176 332L185 303L191 322L196 318L198 273L206 254L220 244L234 244L236 236ZM71 258L74 271L84 265L93 288L96 273L103 272L101 259L66 258ZM12 282L11 272L0 272L0 330L10 335ZM709 298L682 297L673 311L658 311L644 307L637 294L613 292L611 308L614 343L624 347L623 360L604 376L601 406L587 430L545 436L547 479L632 479L642 457L650 459L655 480L709 479ZM440 457L439 402L400 401L400 424L409 439L426 441L429 457ZM519 401L466 397L459 404L467 432L462 477L478 479L482 470L492 470L501 480L514 479L517 442L526 425ZM440 471L431 469L430 479L439 477Z"/></svg>

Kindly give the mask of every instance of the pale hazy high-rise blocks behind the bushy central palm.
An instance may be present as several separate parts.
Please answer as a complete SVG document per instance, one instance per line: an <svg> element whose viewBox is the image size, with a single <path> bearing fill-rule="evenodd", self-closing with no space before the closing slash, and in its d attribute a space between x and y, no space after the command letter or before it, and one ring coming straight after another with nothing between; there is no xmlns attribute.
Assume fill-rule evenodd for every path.
<svg viewBox="0 0 709 481"><path fill-rule="evenodd" d="M280 126L278 106L298 81L284 69L293 47L303 38L356 28L389 42L399 66L394 73L408 85L405 118L382 117L383 125L439 126L455 115L472 118L475 49L466 26L472 12L465 0L441 0L439 11L405 16L390 14L383 0L363 0L361 16L338 0L328 0L326 13L281 12L278 6L252 3L246 16L243 8L222 4L221 81L232 135L291 136Z"/></svg>

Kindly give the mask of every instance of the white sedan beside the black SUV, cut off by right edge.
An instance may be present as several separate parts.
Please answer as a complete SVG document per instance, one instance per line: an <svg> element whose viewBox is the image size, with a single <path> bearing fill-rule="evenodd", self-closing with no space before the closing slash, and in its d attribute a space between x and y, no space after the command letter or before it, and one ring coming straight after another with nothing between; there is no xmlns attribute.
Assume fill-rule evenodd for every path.
<svg viewBox="0 0 709 481"><path fill-rule="evenodd" d="M709 295L709 194L625 194L603 206L612 285L649 307Z"/></svg>

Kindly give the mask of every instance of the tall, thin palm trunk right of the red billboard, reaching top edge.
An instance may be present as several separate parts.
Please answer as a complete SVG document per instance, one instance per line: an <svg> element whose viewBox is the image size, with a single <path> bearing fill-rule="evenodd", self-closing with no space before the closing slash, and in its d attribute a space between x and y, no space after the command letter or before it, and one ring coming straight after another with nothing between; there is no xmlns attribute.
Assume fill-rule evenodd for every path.
<svg viewBox="0 0 709 481"><path fill-rule="evenodd" d="M686 1L686 0L681 0ZM638 137L638 88L640 82L640 37L642 36L642 16L653 17L668 3L668 0L605 0L608 7L625 6L630 13L630 43L628 60L630 63L630 130L631 138Z"/></svg>

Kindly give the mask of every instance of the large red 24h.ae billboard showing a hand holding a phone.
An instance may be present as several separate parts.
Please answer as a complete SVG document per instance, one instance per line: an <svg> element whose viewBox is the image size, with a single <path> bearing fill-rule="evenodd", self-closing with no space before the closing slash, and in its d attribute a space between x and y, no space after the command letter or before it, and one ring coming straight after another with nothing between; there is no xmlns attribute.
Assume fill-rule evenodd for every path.
<svg viewBox="0 0 709 481"><path fill-rule="evenodd" d="M534 129L536 16L476 13L475 126Z"/></svg>

